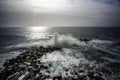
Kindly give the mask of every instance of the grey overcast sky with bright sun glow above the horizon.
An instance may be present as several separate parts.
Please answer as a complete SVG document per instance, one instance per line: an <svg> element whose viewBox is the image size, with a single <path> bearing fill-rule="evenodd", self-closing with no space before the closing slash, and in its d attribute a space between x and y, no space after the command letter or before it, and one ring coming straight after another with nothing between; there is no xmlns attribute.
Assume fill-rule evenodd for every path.
<svg viewBox="0 0 120 80"><path fill-rule="evenodd" d="M0 0L0 27L120 26L120 0Z"/></svg>

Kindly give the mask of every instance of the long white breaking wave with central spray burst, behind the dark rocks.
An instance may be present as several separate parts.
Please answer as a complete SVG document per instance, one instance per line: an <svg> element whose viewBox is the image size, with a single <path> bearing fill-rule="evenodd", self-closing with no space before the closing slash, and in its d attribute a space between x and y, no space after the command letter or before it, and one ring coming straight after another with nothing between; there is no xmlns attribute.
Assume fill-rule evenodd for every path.
<svg viewBox="0 0 120 80"><path fill-rule="evenodd" d="M29 48L33 46L54 46L54 47L71 47L71 46L84 46L84 47L92 47L104 52L107 52L112 55L118 55L119 47L111 47L114 44L114 41L110 40L99 40L93 39L85 43L84 41L79 41L72 35L63 35L63 34L54 34L49 40L40 40L40 41L33 41L28 43L20 43L16 45L11 45L6 47L6 49L14 49L14 48Z"/></svg>

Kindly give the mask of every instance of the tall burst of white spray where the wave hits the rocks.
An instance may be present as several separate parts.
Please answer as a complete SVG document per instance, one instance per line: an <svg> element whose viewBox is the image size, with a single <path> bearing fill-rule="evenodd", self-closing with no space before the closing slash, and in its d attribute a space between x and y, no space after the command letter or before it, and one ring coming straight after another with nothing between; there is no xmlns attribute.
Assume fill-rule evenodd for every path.
<svg viewBox="0 0 120 80"><path fill-rule="evenodd" d="M69 47L73 45L79 45L80 41L73 37L72 35L60 35L55 34L46 45L56 46L56 47Z"/></svg>

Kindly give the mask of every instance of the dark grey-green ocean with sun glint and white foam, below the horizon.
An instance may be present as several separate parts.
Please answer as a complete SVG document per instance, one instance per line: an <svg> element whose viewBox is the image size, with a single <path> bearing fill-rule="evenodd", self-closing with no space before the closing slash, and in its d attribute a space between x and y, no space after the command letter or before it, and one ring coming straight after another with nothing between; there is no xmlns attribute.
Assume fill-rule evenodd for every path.
<svg viewBox="0 0 120 80"><path fill-rule="evenodd" d="M36 46L62 47L41 58L52 64L50 76L64 75L67 68L99 71L106 80L120 80L118 27L0 28L0 66Z"/></svg>

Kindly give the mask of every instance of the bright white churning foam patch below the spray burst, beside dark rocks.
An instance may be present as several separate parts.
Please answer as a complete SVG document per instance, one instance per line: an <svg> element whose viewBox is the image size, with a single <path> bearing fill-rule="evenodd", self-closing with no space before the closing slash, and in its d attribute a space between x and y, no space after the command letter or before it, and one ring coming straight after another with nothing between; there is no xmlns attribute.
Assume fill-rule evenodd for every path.
<svg viewBox="0 0 120 80"><path fill-rule="evenodd" d="M64 67L69 67L70 65L78 65L79 60L73 56L69 56L72 51L65 49L63 51L54 51L44 55L41 59L42 62L61 62Z"/></svg>

